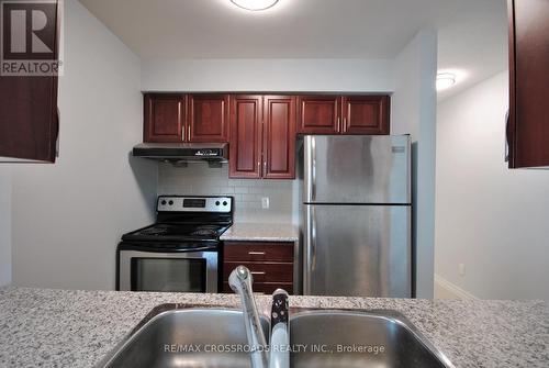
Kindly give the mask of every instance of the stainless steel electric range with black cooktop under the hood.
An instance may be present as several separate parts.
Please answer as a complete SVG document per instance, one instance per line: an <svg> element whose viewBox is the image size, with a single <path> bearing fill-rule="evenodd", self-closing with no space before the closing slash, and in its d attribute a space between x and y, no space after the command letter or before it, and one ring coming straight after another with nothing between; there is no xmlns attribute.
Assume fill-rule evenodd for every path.
<svg viewBox="0 0 549 368"><path fill-rule="evenodd" d="M217 292L233 198L160 196L156 209L156 223L122 236L116 290Z"/></svg>

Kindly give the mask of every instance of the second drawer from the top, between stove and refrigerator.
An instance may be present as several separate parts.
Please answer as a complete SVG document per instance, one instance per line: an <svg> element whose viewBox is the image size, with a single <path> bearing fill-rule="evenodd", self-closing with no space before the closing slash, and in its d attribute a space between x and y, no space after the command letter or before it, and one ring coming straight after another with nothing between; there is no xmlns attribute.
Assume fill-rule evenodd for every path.
<svg viewBox="0 0 549 368"><path fill-rule="evenodd" d="M293 264L271 264L271 263L223 263L223 281L228 281L228 276L237 266L246 266L256 282L292 282Z"/></svg>

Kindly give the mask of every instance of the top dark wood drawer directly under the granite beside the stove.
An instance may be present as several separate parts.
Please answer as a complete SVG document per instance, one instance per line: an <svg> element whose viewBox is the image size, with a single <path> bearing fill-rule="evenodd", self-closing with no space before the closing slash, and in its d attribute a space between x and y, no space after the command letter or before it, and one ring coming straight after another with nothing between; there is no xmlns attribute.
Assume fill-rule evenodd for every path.
<svg viewBox="0 0 549 368"><path fill-rule="evenodd" d="M225 242L223 249L228 261L293 263L293 243Z"/></svg>

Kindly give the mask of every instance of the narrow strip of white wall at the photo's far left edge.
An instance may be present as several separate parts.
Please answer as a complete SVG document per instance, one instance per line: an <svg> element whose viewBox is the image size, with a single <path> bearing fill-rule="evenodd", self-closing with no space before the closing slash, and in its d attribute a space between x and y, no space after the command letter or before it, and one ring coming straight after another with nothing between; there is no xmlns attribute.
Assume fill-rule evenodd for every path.
<svg viewBox="0 0 549 368"><path fill-rule="evenodd" d="M1 164L0 164L1 165ZM0 166L0 287L11 283L11 168Z"/></svg>

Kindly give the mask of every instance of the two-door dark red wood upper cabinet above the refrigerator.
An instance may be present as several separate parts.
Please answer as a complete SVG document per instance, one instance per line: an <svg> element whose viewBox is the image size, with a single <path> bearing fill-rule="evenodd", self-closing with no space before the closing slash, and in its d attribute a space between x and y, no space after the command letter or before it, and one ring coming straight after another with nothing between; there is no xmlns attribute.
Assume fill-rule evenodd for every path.
<svg viewBox="0 0 549 368"><path fill-rule="evenodd" d="M389 134L390 97L301 96L298 98L298 133Z"/></svg>

